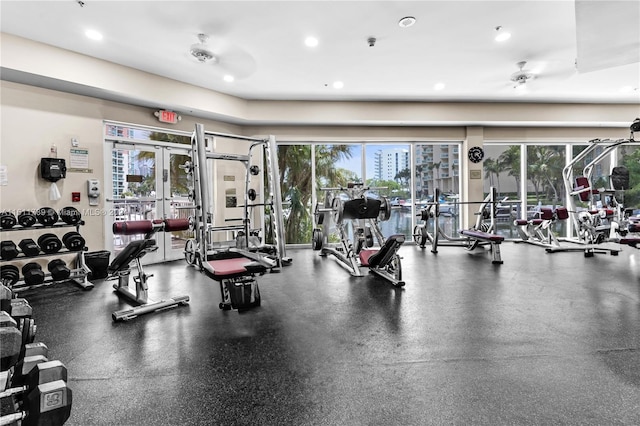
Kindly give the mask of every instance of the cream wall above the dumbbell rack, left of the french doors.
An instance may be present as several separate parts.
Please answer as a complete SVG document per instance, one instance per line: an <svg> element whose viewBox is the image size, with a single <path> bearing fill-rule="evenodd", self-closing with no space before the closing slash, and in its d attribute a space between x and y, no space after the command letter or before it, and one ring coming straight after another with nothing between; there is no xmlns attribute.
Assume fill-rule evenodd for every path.
<svg viewBox="0 0 640 426"><path fill-rule="evenodd" d="M87 240L89 250L105 247L104 218L100 214L89 215L96 208L89 208L87 179L104 180L103 120L122 121L148 126L160 126L153 110L126 104L103 101L72 95L38 87L2 81L0 105L0 164L8 168L8 185L0 186L0 210L32 210L44 206L59 211L65 206L74 206L85 212L86 226L81 233ZM195 122L205 124L207 129L225 133L239 133L237 126L209 120L183 117L171 129L193 131ZM66 179L57 182L62 198L49 199L50 183L40 178L40 158L48 157L50 147L55 144L58 157L64 158L69 167L71 139L89 150L91 173L67 173ZM71 202L71 193L80 192L81 201ZM104 209L104 194L98 209ZM68 230L67 230L68 231ZM21 240L27 233L11 238Z"/></svg>

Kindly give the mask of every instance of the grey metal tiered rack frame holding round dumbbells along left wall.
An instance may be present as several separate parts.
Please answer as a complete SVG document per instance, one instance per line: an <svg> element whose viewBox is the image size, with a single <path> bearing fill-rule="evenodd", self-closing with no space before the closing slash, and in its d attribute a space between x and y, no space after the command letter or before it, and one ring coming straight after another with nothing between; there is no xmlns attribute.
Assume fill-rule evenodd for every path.
<svg viewBox="0 0 640 426"><path fill-rule="evenodd" d="M48 231L48 230L54 230L54 229L61 229L61 228L75 228L76 232L80 232L80 226L84 225L84 221L81 220L80 222L70 225L67 224L65 222L56 222L53 225L41 225L41 224L34 224L33 226L29 226L29 227L23 227L20 225L15 225L12 228L8 228L8 229L0 229L0 233L5 233L5 232L24 232L24 231ZM41 284L27 284L24 280L24 278L20 278L15 284L13 284L12 289L14 292L18 292L18 291L22 291L22 290L29 290L29 289L33 289L33 288L37 288L37 287L42 287L42 286L48 286L48 285L52 285L52 284L56 284L56 283L60 283L60 282L73 282L74 284L77 284L78 286L82 287L84 290L91 290L93 288L93 283L91 283L90 281L87 280L87 275L89 274L89 272L91 272L89 270L89 267L87 266L87 264L85 263L84 260L84 252L87 250L86 247L83 247L82 250L79 251L71 251L68 249L61 249L60 251L56 252L56 253L40 253L37 254L35 256L25 256L24 253L20 253L18 254L17 257L11 259L11 260L0 260L0 264L9 264L12 262L16 262L16 261L21 261L21 260L26 260L26 259L37 259L37 258L42 258L42 257L53 257L53 256L60 256L60 255L64 255L64 254L71 254L71 253L77 253L76 256L76 267L74 269L71 269L71 275L69 275L69 278L65 278L63 280L54 280L53 277L51 276L50 273L45 273L45 279L44 282Z"/></svg>

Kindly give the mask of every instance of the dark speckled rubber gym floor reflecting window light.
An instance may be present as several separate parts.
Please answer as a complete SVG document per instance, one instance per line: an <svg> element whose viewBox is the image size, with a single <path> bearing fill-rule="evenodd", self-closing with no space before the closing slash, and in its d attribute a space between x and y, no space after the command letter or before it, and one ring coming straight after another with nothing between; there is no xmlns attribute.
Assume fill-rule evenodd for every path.
<svg viewBox="0 0 640 426"><path fill-rule="evenodd" d="M640 250L399 253L402 289L288 250L243 313L184 261L145 270L190 305L129 322L114 281L20 295L69 370L68 425L640 424Z"/></svg>

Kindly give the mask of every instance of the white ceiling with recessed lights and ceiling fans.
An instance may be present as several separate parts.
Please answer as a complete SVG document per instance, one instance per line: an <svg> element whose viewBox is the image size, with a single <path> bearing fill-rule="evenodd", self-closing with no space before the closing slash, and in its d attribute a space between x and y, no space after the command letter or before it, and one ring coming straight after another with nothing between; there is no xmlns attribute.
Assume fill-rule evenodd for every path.
<svg viewBox="0 0 640 426"><path fill-rule="evenodd" d="M2 32L246 99L640 103L640 2L580 0L578 13L576 6L2 0L0 12ZM415 25L401 28L405 16ZM511 39L496 42L497 26ZM87 39L89 28L104 39ZM198 33L210 36L217 64L190 56ZM304 45L309 35L316 48ZM536 74L526 90L510 81L519 61ZM225 74L236 80L223 81ZM332 87L337 80L342 89ZM444 90L434 89L438 82Z"/></svg>

